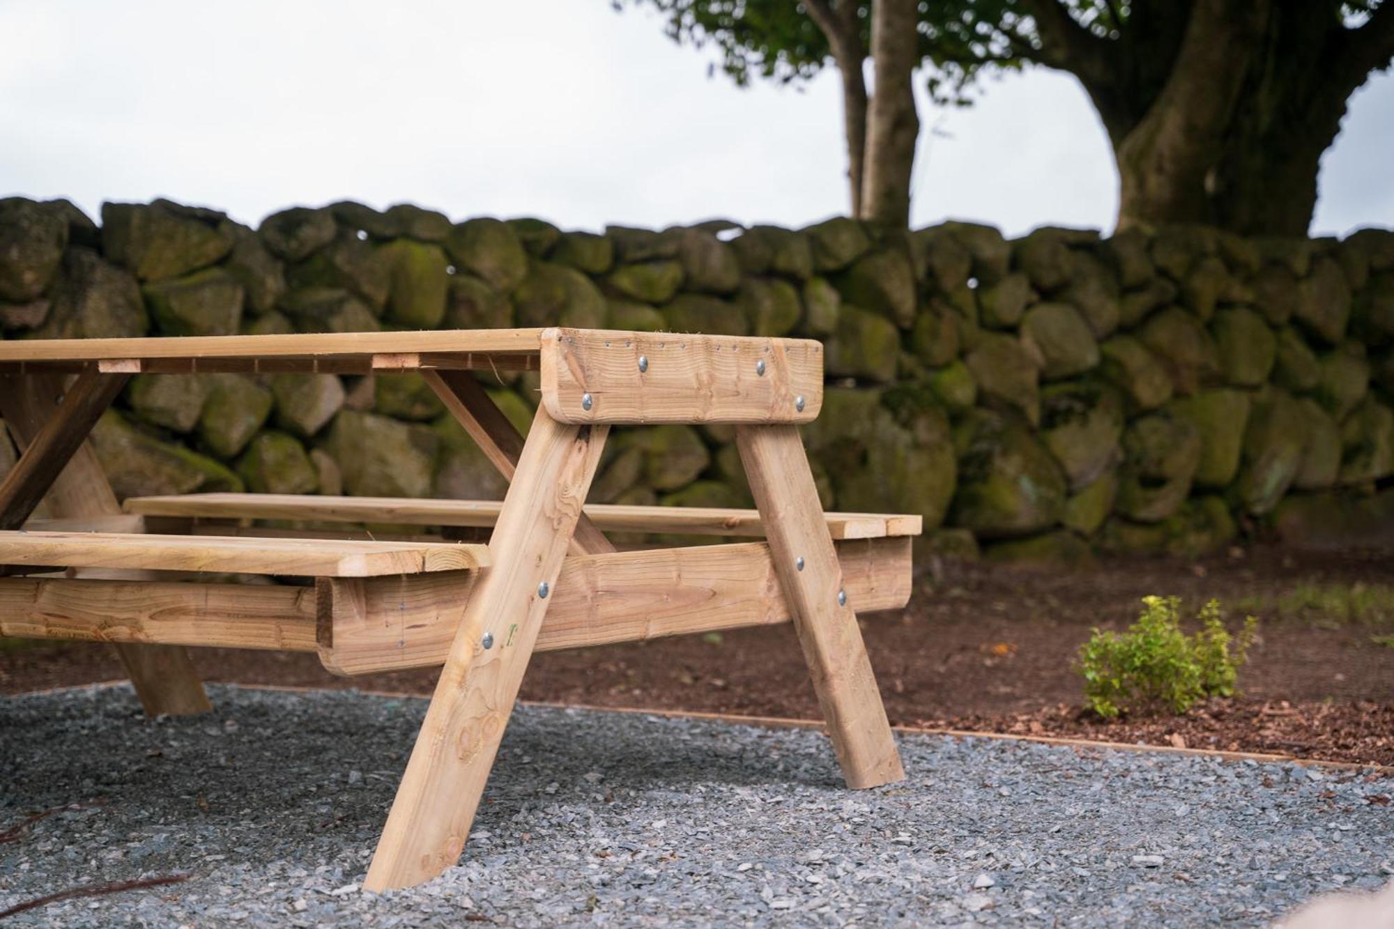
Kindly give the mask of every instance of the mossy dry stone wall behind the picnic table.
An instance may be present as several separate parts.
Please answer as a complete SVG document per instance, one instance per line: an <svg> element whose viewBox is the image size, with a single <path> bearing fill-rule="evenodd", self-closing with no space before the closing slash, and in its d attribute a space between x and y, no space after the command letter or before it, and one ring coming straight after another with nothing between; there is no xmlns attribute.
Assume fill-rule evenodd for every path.
<svg viewBox="0 0 1394 929"><path fill-rule="evenodd" d="M0 201L7 339L609 326L827 343L824 504L1037 562L1241 533L1394 536L1394 233L711 222L604 234L399 205L223 213ZM534 375L491 389L526 427ZM729 428L618 431L597 502L750 504ZM139 375L93 441L120 495L502 497L411 375ZM0 459L13 459L0 449ZM0 460L0 466L4 460Z"/></svg>

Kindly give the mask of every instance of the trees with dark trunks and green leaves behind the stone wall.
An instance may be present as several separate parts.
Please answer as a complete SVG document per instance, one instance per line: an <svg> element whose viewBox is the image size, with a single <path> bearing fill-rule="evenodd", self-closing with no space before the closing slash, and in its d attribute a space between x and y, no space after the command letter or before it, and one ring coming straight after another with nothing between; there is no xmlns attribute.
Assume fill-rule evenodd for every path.
<svg viewBox="0 0 1394 929"><path fill-rule="evenodd" d="M680 42L715 43L737 84L803 81L834 64L853 212L898 220L898 202L873 201L868 183L903 179L907 197L913 145L906 155L896 56L909 42L878 43L871 25L903 28L889 7L907 0L629 1L658 7ZM877 123L867 57L875 85L892 92L899 134ZM986 71L1073 74L1112 144L1122 227L1206 222L1301 236L1351 93L1391 59L1394 0L920 0L910 68L924 68L935 100L953 103L969 102Z"/></svg>

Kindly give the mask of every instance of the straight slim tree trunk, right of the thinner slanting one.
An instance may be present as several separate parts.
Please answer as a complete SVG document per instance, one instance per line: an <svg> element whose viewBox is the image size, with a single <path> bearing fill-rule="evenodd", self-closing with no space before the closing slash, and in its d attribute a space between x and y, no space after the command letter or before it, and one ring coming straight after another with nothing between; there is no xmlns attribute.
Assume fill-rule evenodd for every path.
<svg viewBox="0 0 1394 929"><path fill-rule="evenodd" d="M910 223L910 170L920 134L913 85L917 24L916 0L875 0L871 6L875 86L867 117L859 216L902 229Z"/></svg>

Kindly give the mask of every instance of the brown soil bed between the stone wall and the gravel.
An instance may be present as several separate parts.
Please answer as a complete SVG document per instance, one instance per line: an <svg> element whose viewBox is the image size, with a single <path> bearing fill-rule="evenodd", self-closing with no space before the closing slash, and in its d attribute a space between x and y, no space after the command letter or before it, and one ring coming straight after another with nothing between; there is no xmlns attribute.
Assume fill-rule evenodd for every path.
<svg viewBox="0 0 1394 929"><path fill-rule="evenodd" d="M1294 591L1355 591L1363 619ZM1080 711L1073 667L1094 625L1124 628L1144 594L1211 597L1260 618L1236 700L1188 717L1104 723ZM1309 597L1310 598L1310 597ZM1394 562L1388 552L1234 550L1192 562L1112 559L1097 571L926 566L910 607L863 619L892 723L991 732L1271 752L1394 764ZM429 693L436 672L335 678L309 654L194 651L209 681ZM40 644L0 651L0 693L109 681L105 649ZM523 697L592 706L815 718L788 625L666 639L533 660Z"/></svg>

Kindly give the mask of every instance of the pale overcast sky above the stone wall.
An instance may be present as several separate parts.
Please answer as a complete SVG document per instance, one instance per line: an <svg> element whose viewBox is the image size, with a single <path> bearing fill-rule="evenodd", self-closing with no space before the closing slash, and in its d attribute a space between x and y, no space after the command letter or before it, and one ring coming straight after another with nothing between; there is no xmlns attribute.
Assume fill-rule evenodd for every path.
<svg viewBox="0 0 1394 929"><path fill-rule="evenodd" d="M0 0L0 194L169 197L255 225L413 201L569 229L848 208L841 100L736 89L609 0ZM1108 229L1117 176L1073 78L921 107L913 223ZM1313 232L1394 225L1394 78L1355 96Z"/></svg>

